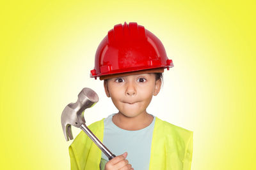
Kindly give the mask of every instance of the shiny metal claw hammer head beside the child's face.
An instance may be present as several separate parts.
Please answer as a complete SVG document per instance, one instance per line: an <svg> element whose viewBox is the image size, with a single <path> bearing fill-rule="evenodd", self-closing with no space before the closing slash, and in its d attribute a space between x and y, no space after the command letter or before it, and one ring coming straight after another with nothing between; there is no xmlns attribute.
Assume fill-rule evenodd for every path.
<svg viewBox="0 0 256 170"><path fill-rule="evenodd" d="M98 95L89 88L84 88L79 94L76 103L68 104L61 114L61 125L66 140L73 139L71 125L80 127L85 124L84 110L91 108L99 101Z"/></svg>

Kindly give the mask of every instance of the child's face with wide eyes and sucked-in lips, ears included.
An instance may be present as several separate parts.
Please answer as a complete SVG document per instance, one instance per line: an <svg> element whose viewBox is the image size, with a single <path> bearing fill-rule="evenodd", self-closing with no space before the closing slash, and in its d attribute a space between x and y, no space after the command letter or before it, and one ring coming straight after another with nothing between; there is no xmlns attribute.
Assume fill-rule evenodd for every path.
<svg viewBox="0 0 256 170"><path fill-rule="evenodd" d="M161 89L161 79L156 81L154 73L122 76L104 81L104 88L120 113L137 117L147 113L152 96Z"/></svg>

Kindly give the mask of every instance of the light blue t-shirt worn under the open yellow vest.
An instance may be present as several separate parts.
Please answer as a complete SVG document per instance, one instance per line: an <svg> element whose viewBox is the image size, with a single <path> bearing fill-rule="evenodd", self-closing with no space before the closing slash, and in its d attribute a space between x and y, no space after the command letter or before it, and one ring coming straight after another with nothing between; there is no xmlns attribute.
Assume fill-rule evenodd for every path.
<svg viewBox="0 0 256 170"><path fill-rule="evenodd" d="M151 142L156 117L150 125L138 131L127 131L117 127L113 122L113 115L104 119L103 144L116 156L127 152L127 160L135 170L149 168ZM108 157L102 152L100 169L105 168Z"/></svg>

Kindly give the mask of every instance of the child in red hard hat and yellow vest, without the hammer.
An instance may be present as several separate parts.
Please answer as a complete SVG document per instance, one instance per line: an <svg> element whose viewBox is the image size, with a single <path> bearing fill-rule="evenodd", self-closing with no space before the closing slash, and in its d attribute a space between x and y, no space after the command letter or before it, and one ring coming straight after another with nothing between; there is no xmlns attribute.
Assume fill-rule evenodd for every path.
<svg viewBox="0 0 256 170"><path fill-rule="evenodd" d="M106 96L118 113L89 127L118 156L108 161L81 132L69 148L72 169L191 168L193 132L146 111L169 67L172 60L161 41L143 26L118 24L108 32L97 49L91 77L104 80Z"/></svg>

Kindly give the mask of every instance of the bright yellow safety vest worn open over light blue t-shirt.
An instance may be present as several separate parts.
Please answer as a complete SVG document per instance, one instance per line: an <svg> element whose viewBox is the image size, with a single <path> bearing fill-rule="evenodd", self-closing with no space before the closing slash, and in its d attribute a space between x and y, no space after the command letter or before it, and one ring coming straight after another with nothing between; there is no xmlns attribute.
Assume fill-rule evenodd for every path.
<svg viewBox="0 0 256 170"><path fill-rule="evenodd" d="M104 119L89 129L103 140ZM99 170L101 150L81 131L69 146L71 170ZM189 170L193 153L193 131L156 117L150 153L150 170Z"/></svg>

